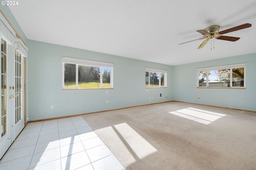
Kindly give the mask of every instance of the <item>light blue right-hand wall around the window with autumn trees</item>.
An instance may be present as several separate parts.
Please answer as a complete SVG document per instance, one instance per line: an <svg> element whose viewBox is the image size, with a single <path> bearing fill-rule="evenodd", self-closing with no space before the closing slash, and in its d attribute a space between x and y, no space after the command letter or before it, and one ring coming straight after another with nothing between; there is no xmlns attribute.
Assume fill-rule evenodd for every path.
<svg viewBox="0 0 256 170"><path fill-rule="evenodd" d="M196 68L245 62L246 89L196 88ZM173 73L175 101L256 111L256 53L177 65Z"/></svg>

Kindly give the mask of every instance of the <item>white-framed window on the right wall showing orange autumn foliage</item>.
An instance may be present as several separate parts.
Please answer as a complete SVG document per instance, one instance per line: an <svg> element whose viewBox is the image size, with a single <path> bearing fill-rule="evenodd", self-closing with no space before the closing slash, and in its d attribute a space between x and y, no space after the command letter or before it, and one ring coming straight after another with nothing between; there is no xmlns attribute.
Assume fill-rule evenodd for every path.
<svg viewBox="0 0 256 170"><path fill-rule="evenodd" d="M197 87L245 87L245 63L199 68L196 72Z"/></svg>

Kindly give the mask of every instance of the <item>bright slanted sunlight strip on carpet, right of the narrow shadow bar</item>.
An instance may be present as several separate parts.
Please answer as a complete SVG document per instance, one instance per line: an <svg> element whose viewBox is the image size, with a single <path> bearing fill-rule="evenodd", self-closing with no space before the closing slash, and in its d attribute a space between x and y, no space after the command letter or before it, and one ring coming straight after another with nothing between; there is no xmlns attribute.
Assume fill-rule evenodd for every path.
<svg viewBox="0 0 256 170"><path fill-rule="evenodd" d="M118 132L122 135L134 154L140 159L157 152L147 140L138 134L133 128L126 123L114 125Z"/></svg>

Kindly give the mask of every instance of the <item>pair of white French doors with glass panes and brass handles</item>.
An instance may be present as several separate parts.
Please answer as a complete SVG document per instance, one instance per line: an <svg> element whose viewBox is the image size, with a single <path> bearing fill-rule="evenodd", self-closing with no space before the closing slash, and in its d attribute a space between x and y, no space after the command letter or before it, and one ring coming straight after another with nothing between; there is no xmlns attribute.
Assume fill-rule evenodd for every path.
<svg viewBox="0 0 256 170"><path fill-rule="evenodd" d="M0 158L24 128L24 57L1 38Z"/></svg>

